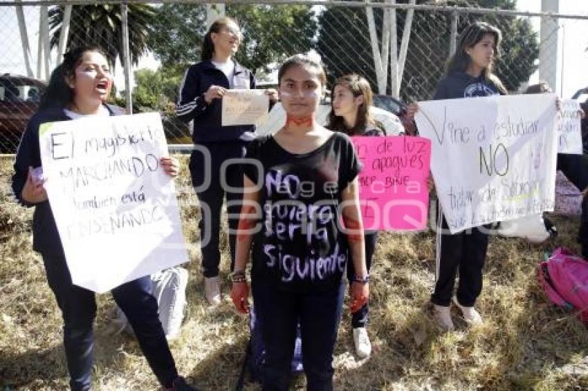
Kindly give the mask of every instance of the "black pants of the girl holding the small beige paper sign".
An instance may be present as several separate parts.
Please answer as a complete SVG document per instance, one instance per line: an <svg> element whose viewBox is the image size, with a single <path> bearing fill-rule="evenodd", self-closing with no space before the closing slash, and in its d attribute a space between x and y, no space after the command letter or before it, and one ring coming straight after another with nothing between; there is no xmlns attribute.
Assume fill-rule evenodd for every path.
<svg viewBox="0 0 588 391"><path fill-rule="evenodd" d="M241 211L241 200L243 193L243 170L238 162L226 166L222 171L223 162L229 159L244 158L246 153L246 142L223 142L199 144L205 151L192 152L190 156L190 174L192 175L192 186L198 196L200 205L201 220L200 247L202 251L202 267L205 277L219 275L219 263L221 262L220 233L221 233L221 211L223 200L227 200L227 213L229 214L228 227L230 233L230 269L235 265L235 243L236 232L239 226L239 212ZM208 153L210 159L205 157ZM223 178L221 178L223 175ZM224 183L223 183L224 182ZM230 187L238 188L230 189ZM230 216L233 216L232 218Z"/></svg>

